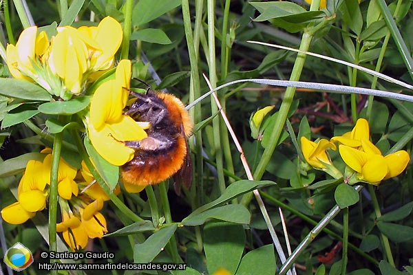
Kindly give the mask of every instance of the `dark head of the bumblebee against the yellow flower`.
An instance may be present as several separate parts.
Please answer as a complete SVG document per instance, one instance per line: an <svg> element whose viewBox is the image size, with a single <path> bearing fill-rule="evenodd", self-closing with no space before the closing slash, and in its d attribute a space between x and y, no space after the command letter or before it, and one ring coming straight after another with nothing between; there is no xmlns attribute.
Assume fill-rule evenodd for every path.
<svg viewBox="0 0 413 275"><path fill-rule="evenodd" d="M167 105L153 91L149 90L146 94L131 94L137 98L126 112L131 118L136 121L149 121L151 126L156 126L167 118Z"/></svg>

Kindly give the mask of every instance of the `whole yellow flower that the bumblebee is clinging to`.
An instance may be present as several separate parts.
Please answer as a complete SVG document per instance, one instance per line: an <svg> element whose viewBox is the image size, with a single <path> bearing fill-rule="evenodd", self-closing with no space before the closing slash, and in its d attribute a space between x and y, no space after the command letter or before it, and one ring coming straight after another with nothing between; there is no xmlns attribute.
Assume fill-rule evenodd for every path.
<svg viewBox="0 0 413 275"><path fill-rule="evenodd" d="M120 61L116 67L116 79L107 80L96 89L87 120L92 145L107 162L116 166L134 157L134 149L123 142L147 137L134 119L123 114L128 96L125 87L129 87L130 75L131 62Z"/></svg>

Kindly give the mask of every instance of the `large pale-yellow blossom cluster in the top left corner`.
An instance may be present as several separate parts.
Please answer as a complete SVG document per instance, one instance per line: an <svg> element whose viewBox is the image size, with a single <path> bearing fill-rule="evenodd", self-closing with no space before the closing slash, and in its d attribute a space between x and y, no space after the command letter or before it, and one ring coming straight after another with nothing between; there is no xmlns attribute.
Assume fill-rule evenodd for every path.
<svg viewBox="0 0 413 275"><path fill-rule="evenodd" d="M122 27L105 17L97 27L56 28L50 41L36 26L23 30L16 45L6 49L14 78L35 82L50 94L69 100L85 85L114 65L122 41Z"/></svg>

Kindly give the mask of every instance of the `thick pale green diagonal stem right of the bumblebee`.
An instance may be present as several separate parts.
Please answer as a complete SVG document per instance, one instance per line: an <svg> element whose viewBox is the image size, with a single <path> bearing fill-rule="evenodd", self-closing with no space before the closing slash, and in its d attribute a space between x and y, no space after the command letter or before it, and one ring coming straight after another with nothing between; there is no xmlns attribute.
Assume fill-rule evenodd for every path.
<svg viewBox="0 0 413 275"><path fill-rule="evenodd" d="M313 7L313 5L311 5ZM308 48L310 47L311 40L313 39L313 34L310 34L308 30L304 32L303 37L301 39L301 45L299 46L299 50L307 52ZM304 67L304 63L306 61L306 54L297 54L297 58L295 59L293 71L291 72L290 80L297 81L301 76L302 69ZM277 120L275 121L274 130L271 133L271 137L268 140L271 140L271 143L266 146L264 153L260 159L260 162L257 165L257 168L254 172L254 179L260 180L262 175L264 175L266 166L268 162L270 162L271 157L275 151L275 147L278 144L279 136L282 133L284 128L284 124L286 123L288 111L290 110L291 104L293 103L295 95L295 87L287 87L286 92L284 94L284 99L282 100L282 104L279 107L279 113L277 116ZM242 197L241 203L244 206L248 205L253 197L253 193L249 192Z"/></svg>

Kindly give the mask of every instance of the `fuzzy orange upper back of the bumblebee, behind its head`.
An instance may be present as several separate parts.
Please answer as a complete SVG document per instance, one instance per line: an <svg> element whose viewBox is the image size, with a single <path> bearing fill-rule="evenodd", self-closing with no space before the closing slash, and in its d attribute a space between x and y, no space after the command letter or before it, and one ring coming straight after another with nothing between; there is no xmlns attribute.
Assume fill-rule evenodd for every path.
<svg viewBox="0 0 413 275"><path fill-rule="evenodd" d="M192 133L193 122L189 116L188 111L185 109L184 104L176 96L166 93L158 93L157 96L162 99L167 105L168 111L171 115L171 120L175 123L182 120L184 125L185 135L189 137ZM176 125L180 127L180 125Z"/></svg>

